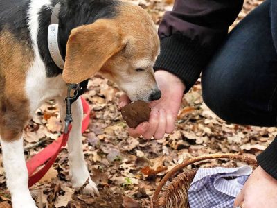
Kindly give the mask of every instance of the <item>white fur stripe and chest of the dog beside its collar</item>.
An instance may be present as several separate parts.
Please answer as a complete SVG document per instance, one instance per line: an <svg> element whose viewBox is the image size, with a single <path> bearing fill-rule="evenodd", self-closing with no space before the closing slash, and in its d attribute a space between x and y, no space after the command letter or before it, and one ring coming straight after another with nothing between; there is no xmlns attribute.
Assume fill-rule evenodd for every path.
<svg viewBox="0 0 277 208"><path fill-rule="evenodd" d="M37 46L37 33L39 30L39 10L42 6L49 6L51 9L51 1L30 2L28 10L28 28L30 29L30 37L33 42L34 60L28 74L26 76L26 94L30 101L30 112L33 114L37 107L50 98L62 96L66 90L66 83L62 80L62 76L47 78L46 67L39 55Z"/></svg>

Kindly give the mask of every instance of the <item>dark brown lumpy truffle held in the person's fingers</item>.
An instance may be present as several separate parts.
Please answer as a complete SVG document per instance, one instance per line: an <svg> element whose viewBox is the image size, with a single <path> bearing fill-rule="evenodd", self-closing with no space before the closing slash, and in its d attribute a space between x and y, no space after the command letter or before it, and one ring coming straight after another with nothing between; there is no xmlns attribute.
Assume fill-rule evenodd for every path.
<svg viewBox="0 0 277 208"><path fill-rule="evenodd" d="M136 101L121 108L123 119L127 125L136 128L140 123L149 120L151 108L144 101Z"/></svg>

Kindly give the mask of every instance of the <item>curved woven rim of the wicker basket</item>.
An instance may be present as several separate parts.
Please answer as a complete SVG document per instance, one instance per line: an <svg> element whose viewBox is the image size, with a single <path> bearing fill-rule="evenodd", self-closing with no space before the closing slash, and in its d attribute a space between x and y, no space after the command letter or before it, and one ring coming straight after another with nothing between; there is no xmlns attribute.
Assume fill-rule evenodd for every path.
<svg viewBox="0 0 277 208"><path fill-rule="evenodd" d="M256 159L252 159L251 157L245 156L245 155L238 155L234 153L215 153L215 154L208 154L208 155L202 155L199 157L193 157L191 159L186 159L184 162L181 164L178 164L174 168L172 168L159 182L159 185L157 186L157 189L154 191L154 194L151 198L150 205L156 204L157 201L159 200L159 193L161 192L161 189L163 186L166 184L166 182L174 175L177 173L177 171L180 171L182 168L194 164L195 162L201 162L206 159L235 159L235 160L240 160L242 162L246 162L249 165L253 166L258 166L258 162ZM151 206L152 207L152 206Z"/></svg>

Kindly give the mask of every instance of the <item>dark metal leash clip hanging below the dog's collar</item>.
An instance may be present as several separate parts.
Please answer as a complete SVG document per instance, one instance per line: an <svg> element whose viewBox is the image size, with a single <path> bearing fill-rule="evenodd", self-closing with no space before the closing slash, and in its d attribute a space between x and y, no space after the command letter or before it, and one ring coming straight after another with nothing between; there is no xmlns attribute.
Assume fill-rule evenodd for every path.
<svg viewBox="0 0 277 208"><path fill-rule="evenodd" d="M73 96L71 96L73 92ZM69 125L73 121L72 114L71 114L71 105L76 101L81 94L81 88L79 83L78 84L69 84L69 87L67 88L67 96L65 98L66 101L66 116L65 116L65 126L64 126L64 134L67 134L69 132Z"/></svg>

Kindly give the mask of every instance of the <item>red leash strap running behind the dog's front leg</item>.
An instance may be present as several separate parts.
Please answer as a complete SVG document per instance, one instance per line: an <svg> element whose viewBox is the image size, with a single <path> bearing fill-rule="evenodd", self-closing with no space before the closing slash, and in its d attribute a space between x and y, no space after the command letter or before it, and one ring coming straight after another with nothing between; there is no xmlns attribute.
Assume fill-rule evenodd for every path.
<svg viewBox="0 0 277 208"><path fill-rule="evenodd" d="M84 116L84 119L82 120L82 132L84 132L84 130L86 130L89 126L89 114L91 110L89 108L89 103L87 103L87 101L85 101L84 98L81 98L81 100L84 114L86 114ZM71 126L69 127L69 132L70 130ZM60 153L62 146L66 146L67 140L69 139L69 132L67 134L61 135L57 140L53 141L50 145L46 146L44 150L40 151L39 153L37 153L37 155L28 160L28 187L32 187L33 184L35 184L42 177L44 177L49 168L51 168L51 166L55 162L55 159L57 158L57 155ZM43 168L34 173L35 170L43 164L45 164Z"/></svg>

